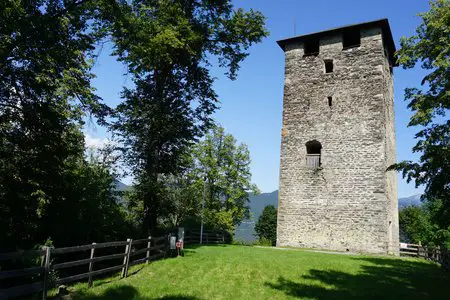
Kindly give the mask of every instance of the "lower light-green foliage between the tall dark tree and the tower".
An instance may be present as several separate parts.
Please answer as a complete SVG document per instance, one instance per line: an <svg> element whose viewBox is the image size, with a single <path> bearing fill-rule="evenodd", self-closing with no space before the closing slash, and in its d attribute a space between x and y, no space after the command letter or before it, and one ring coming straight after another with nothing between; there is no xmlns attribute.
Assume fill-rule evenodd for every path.
<svg viewBox="0 0 450 300"><path fill-rule="evenodd" d="M159 223L169 228L199 226L205 198L205 226L234 231L248 217L250 194L258 192L251 183L247 146L215 127L190 148L183 162L178 176L159 177L165 199Z"/></svg>

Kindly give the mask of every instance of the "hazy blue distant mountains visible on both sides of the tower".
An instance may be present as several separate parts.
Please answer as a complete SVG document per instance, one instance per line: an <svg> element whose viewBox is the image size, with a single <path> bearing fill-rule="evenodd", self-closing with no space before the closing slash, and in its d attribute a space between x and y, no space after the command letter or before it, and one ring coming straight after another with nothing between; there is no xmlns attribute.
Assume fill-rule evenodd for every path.
<svg viewBox="0 0 450 300"><path fill-rule="evenodd" d="M419 206L420 194L398 199L398 208L402 209L408 206ZM256 241L255 237L255 222L261 215L264 207L267 205L273 205L278 207L278 190L272 193L262 193L259 195L250 196L250 220L244 221L236 228L234 232L234 238L237 241L253 242Z"/></svg>

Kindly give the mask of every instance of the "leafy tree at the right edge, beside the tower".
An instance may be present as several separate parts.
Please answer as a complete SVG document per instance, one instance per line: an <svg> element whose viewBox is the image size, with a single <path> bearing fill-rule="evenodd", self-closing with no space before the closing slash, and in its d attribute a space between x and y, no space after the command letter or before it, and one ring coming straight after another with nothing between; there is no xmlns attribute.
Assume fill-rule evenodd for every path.
<svg viewBox="0 0 450 300"><path fill-rule="evenodd" d="M407 88L405 100L414 113L408 126L419 128L413 152L418 162L402 161L391 169L402 171L407 181L425 186L422 199L440 201L439 226L450 226L450 2L430 1L430 11L420 14L416 35L402 38L398 62L404 69L420 63L428 71L421 88Z"/></svg>

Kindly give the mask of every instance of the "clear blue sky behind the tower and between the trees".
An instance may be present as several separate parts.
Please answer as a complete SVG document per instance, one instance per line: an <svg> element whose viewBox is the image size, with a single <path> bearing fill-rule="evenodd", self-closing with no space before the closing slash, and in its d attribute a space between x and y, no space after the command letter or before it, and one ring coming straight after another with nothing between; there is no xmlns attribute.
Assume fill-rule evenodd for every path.
<svg viewBox="0 0 450 300"><path fill-rule="evenodd" d="M270 36L250 49L250 56L242 64L236 81L230 81L224 70L214 68L215 90L221 109L215 119L239 142L246 143L252 158L253 182L262 192L278 189L280 132L283 101L284 53L276 44L282 38L325 30L332 27L388 18L399 47L402 36L411 36L420 24L417 13L428 10L425 0L236 0L236 7L253 8L267 17ZM120 102L120 91L130 85L126 68L109 56L110 46L105 45L97 60L93 84L99 96L112 107ZM411 113L403 101L403 90L419 86L424 72L394 70L395 125L397 133L397 160L415 160L411 148L415 144L416 128L407 128ZM108 136L104 128L94 122L86 125L85 134L90 144L101 144ZM124 178L131 183L131 178ZM399 197L420 193L414 185L406 184L399 176Z"/></svg>

